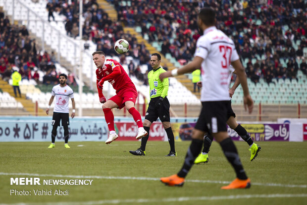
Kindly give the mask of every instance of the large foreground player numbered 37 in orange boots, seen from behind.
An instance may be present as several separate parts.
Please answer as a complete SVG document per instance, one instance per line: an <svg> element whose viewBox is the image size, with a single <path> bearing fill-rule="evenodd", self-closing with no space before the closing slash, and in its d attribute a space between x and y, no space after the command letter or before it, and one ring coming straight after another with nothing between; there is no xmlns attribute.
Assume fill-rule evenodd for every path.
<svg viewBox="0 0 307 205"><path fill-rule="evenodd" d="M195 158L201 153L203 138L206 134L213 135L220 144L227 160L235 169L237 178L221 189L249 188L251 180L247 177L236 146L227 134L227 103L230 101L227 79L230 75L230 64L235 68L244 92L244 105L248 105L251 113L254 107L249 94L246 74L240 62L235 45L215 25L215 12L212 8L202 8L199 13L198 25L204 35L196 45L195 57L192 62L180 69L160 74L160 79L193 72L201 67L203 85L201 101L202 111L192 132L192 143L188 149L183 167L172 176L160 180L168 186L182 186L185 177L194 164Z"/></svg>

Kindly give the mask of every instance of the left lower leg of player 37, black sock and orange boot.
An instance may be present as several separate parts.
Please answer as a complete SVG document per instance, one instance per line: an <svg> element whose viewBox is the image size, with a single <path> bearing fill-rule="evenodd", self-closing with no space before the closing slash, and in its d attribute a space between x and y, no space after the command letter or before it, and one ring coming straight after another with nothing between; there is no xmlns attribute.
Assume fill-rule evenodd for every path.
<svg viewBox="0 0 307 205"><path fill-rule="evenodd" d="M182 168L177 174L160 178L162 183L168 186L182 186L184 184L184 179L193 166L195 158L202 150L204 135L205 132L202 130L193 130L192 143L188 149Z"/></svg>

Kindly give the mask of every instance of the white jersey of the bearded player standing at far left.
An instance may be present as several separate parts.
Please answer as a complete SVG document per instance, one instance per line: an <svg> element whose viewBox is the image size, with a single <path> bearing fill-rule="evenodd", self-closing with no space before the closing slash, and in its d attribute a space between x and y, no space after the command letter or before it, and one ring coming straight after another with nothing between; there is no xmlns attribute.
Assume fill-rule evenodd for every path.
<svg viewBox="0 0 307 205"><path fill-rule="evenodd" d="M55 96L53 112L69 113L69 98L74 98L72 89L68 85L61 87L58 84L53 86L51 95Z"/></svg>

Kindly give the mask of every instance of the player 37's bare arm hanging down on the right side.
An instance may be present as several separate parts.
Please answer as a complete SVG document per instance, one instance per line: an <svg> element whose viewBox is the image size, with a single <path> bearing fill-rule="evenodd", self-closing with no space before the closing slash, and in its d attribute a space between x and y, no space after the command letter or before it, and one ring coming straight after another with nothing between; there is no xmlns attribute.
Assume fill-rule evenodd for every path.
<svg viewBox="0 0 307 205"><path fill-rule="evenodd" d="M250 96L249 87L247 85L246 73L244 67L240 60L235 60L231 62L231 65L235 68L237 76L239 78L239 82L241 83L243 94L244 94L244 107L245 110L249 109L249 113L252 113L254 108L254 101Z"/></svg>

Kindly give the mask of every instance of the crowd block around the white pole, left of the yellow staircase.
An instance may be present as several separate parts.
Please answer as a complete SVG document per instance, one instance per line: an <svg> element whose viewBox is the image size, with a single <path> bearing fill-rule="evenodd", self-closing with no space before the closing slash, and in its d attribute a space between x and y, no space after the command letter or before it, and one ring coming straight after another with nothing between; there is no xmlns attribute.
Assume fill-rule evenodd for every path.
<svg viewBox="0 0 307 205"><path fill-rule="evenodd" d="M47 3L49 18L53 16L53 11L59 15L64 15L65 29L68 36L76 38L79 35L79 2L71 0L69 4L67 0L49 0ZM52 11L52 12L51 12ZM82 29L84 40L91 40L97 44L97 51L103 51L106 55L118 55L114 51L114 43L118 39L126 39L130 44L130 50L120 55L120 63L129 64L126 56L134 58L134 66L131 68L131 75L136 76L140 81L147 78L147 74L140 72L140 64L149 64L150 53L144 44L138 44L135 36L130 33L124 33L123 26L120 21L112 21L107 13L99 8L97 0L87 0L83 2L83 17L85 19ZM52 20L52 18L51 18ZM142 54L141 54L142 53ZM130 70L129 70L130 71ZM145 82L145 81L144 81ZM148 83L148 82L146 82Z"/></svg>

